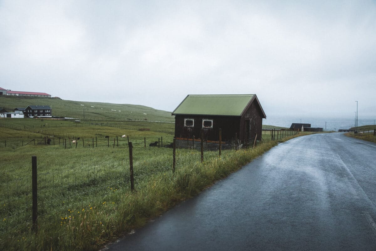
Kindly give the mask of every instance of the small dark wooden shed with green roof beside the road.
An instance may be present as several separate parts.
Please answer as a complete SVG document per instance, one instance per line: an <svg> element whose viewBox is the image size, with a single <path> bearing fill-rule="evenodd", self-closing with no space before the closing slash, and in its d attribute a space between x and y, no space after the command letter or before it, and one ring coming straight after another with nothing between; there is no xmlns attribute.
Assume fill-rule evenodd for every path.
<svg viewBox="0 0 376 251"><path fill-rule="evenodd" d="M256 94L188 95L173 111L175 138L187 142L200 139L203 128L206 142L261 140L262 119L266 118ZM180 147L188 144L182 143Z"/></svg>

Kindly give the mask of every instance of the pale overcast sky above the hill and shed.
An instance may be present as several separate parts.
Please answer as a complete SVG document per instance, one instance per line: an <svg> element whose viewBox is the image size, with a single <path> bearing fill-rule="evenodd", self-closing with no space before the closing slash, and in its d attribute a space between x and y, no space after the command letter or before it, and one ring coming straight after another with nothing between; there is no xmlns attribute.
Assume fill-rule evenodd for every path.
<svg viewBox="0 0 376 251"><path fill-rule="evenodd" d="M0 87L173 111L257 94L268 116L376 117L375 1L3 1Z"/></svg>

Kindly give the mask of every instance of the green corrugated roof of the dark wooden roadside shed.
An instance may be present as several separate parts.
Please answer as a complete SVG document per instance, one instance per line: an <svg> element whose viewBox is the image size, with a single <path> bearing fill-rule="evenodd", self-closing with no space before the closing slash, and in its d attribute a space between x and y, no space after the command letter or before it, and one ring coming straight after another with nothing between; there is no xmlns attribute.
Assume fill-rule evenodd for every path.
<svg viewBox="0 0 376 251"><path fill-rule="evenodd" d="M258 102L262 114L264 110L256 97L256 94L244 95L188 95L172 112L176 114L190 115L221 115L221 116L242 116L250 103Z"/></svg>

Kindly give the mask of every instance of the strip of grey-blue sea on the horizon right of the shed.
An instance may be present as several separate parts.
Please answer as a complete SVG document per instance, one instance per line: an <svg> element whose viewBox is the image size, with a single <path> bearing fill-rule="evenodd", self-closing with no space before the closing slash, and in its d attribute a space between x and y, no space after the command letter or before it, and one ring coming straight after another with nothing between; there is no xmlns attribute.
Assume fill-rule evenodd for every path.
<svg viewBox="0 0 376 251"><path fill-rule="evenodd" d="M321 127L325 131L338 131L339 129L350 129L355 126L355 119L344 118L293 118L293 117L273 117L270 116L267 119L262 120L262 125L273 125L290 127L291 123L307 123L311 124L311 127ZM361 119L358 117L358 126L362 125L374 125L374 119Z"/></svg>

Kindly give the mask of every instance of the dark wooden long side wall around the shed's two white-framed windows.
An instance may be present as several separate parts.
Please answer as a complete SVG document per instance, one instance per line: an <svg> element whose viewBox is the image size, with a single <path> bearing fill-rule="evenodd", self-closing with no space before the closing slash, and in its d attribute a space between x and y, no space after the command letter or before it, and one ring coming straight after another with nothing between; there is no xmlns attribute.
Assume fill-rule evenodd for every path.
<svg viewBox="0 0 376 251"><path fill-rule="evenodd" d="M194 119L194 127L184 126L184 119ZM230 141L240 134L240 116L202 116L175 115L175 137L200 138L202 120L212 119L213 128L204 128L205 140L219 140L219 129L222 129L222 141Z"/></svg>

